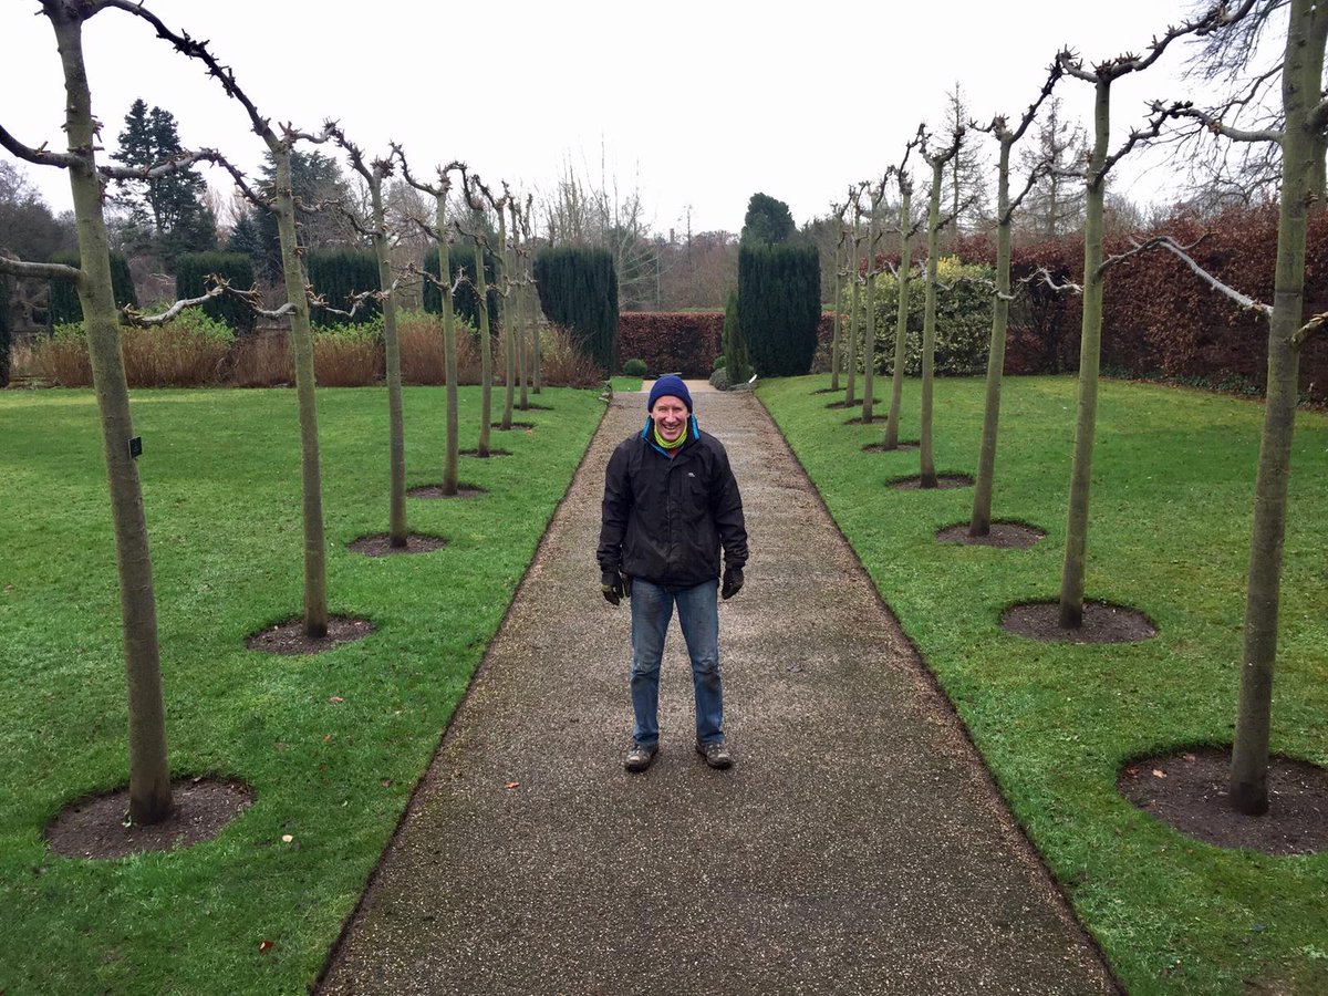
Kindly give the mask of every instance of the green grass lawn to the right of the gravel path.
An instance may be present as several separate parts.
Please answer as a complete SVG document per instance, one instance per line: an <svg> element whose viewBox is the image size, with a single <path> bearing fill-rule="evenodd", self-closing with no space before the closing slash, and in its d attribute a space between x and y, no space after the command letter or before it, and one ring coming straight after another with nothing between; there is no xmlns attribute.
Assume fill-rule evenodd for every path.
<svg viewBox="0 0 1328 996"><path fill-rule="evenodd" d="M1134 606L1161 632L1138 644L1073 647L1008 635L996 619L1011 603L1057 598L1076 382L1005 381L993 513L1046 530L1029 550L935 542L938 529L968 521L972 489L884 487L918 473L916 452L863 453L884 421L845 425L849 413L826 408L833 394L811 393L827 385L823 376L776 380L758 397L1129 992L1328 992L1328 853L1270 858L1212 847L1116 790L1126 760L1230 744L1262 406L1102 384L1088 596ZM888 405L888 385L886 396ZM910 381L902 438L918 436L918 398ZM981 405L980 381L936 382L938 471L976 473ZM1272 745L1320 765L1328 764L1325 551L1328 417L1300 413Z"/></svg>

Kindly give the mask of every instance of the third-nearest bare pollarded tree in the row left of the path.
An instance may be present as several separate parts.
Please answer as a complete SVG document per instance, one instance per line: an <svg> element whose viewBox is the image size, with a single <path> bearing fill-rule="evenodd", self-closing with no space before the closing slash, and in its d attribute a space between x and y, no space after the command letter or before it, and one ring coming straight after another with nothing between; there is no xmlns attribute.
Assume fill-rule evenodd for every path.
<svg viewBox="0 0 1328 996"><path fill-rule="evenodd" d="M401 344L397 339L397 303L392 276L392 247L388 243L388 218L382 202L382 182L392 175L392 159L364 161L364 153L345 137L337 125L328 122L327 133L345 151L351 169L369 186L368 235L378 263L378 291L382 295L382 347L388 377L388 544L404 548L410 538L406 525L406 442L401 404Z"/></svg>

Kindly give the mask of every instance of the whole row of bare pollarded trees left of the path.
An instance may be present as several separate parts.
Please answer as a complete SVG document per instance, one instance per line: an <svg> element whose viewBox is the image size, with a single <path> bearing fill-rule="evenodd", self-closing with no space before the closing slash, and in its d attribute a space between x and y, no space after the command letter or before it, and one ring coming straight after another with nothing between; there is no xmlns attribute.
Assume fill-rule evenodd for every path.
<svg viewBox="0 0 1328 996"><path fill-rule="evenodd" d="M271 197L254 190L244 175L219 151L181 151L169 161L149 166L112 166L98 162L97 117L92 106L86 64L82 54L84 27L104 11L116 9L141 19L159 39L179 53L201 62L207 74L216 80L224 93L235 100L248 116L254 133L263 141L274 166L275 182ZM137 823L165 819L173 807L170 768L166 750L166 722L162 699L161 663L157 637L155 595L153 590L151 556L143 514L142 489L134 459L141 444L134 436L129 408L129 392L124 361L120 352L120 323L122 320L157 324L177 315L182 308L201 304L219 293L236 293L270 316L290 320L290 343L293 356L295 386L299 406L301 440L301 490L304 522L304 586L303 628L309 637L321 637L328 631L328 596L325 538L323 526L323 493L319 457L317 408L315 405L313 347L309 327L309 308L325 303L311 296L304 271L303 247L299 242L299 220L323 211L349 215L361 236L368 238L377 254L378 287L365 288L359 297L373 296L382 301L384 339L386 353L386 381L389 406L389 538L393 546L405 546L409 537L405 502L405 448L401 404L401 364L396 336L394 290L404 279L418 279L418 272L396 272L389 260L389 236L384 208L384 181L400 166L410 186L421 194L432 195L437 205L432 222L417 219L421 230L437 242L441 255L438 278L444 299L442 325L445 363L448 372L446 456L444 459L442 493L456 494L458 456L457 371L456 371L456 316L453 293L459 280L466 280L465 270L459 280L453 280L449 267L449 248L457 224L446 216L452 178L461 175L462 190L470 207L497 215L499 246L493 247L481 232L475 236L473 283L479 301L481 335L485 348L481 356L483 372L483 413L479 429L479 456L489 456L491 418L491 369L489 325L502 325L506 352L507 388L501 428L511 428L514 385L519 380L519 405L529 406L527 382L538 393L539 347L535 335L535 305L531 295L530 260L526 246L530 242L530 199L525 205L503 186L503 195L494 197L478 177L461 163L449 163L437 171L437 182L420 183L410 174L405 153L393 145L388 155L368 161L363 150L347 137L335 122L324 124L317 133L305 133L291 125L272 126L272 118L260 113L256 104L240 88L234 72L219 62L207 42L187 33L175 32L137 0L41 0L41 13L49 20L56 35L62 60L68 92L64 130L68 151L50 151L45 143L27 145L0 125L0 145L12 155L39 166L64 169L69 175L74 201L78 235L78 266L58 266L20 260L0 252L0 272L20 278L66 278L77 288L84 309L93 386L97 396L102 426L102 446L110 485L112 521L116 535L121 615L124 625L125 668L129 685L129 815ZM364 179L369 191L368 211L348 211L344 203L311 205L295 195L292 183L292 153L300 143L332 142L348 157L352 169ZM203 296L177 301L161 315L121 315L112 293L109 239L104 214L106 185L126 179L157 179L189 169L198 162L211 162L227 169L236 190L255 208L270 212L276 220L282 247L282 271L287 303L267 311L254 290L231 288L224 282ZM511 239L506 224L511 223ZM501 260L498 291L502 304L497 315L489 315L489 295L485 286L483 252L489 250Z"/></svg>

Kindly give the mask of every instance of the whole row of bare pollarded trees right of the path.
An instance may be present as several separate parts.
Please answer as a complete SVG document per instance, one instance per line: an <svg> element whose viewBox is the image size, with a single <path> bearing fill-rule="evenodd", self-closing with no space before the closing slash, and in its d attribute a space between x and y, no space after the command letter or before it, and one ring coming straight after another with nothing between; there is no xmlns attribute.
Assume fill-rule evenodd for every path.
<svg viewBox="0 0 1328 996"><path fill-rule="evenodd" d="M1280 65L1260 68L1255 85L1239 92L1218 108L1198 108L1193 102L1163 102L1151 106L1147 121L1131 129L1123 141L1112 143L1110 101L1113 84L1129 74L1141 73L1154 65L1162 54L1181 39L1194 39L1206 44L1210 62L1199 62L1208 76L1215 76L1212 60L1226 60L1226 68L1243 65L1251 58L1251 49L1234 39L1258 37L1274 16L1287 16L1286 44ZM1057 291L1082 296L1082 327L1080 339L1078 401L1074 429L1074 452L1070 470L1066 511L1065 558L1061 572L1058 619L1060 625L1074 629L1084 625L1085 570L1088 560L1089 498L1092 485L1093 445L1097 421L1098 365L1102 333L1104 275L1122 259L1153 251L1167 250L1181 255L1195 274L1214 290L1227 295L1236 307L1251 308L1268 316L1268 386L1263 440L1260 446L1258 479L1255 485L1255 511L1251 538L1250 575L1246 596L1244 645L1242 653L1240 695L1236 710L1235 738L1231 762L1231 802L1248 814L1268 809L1267 768L1271 725L1271 688L1276 659L1278 602L1282 574L1282 543L1286 531L1287 477L1289 470L1291 440L1297 397L1297 359L1305 340L1315 335L1328 315L1305 320L1305 216L1319 210L1325 198L1325 146L1328 146L1328 98L1324 96L1324 49L1328 39L1328 9L1319 0L1243 0L1239 4L1218 4L1201 16L1177 27L1169 27L1155 36L1142 54L1122 54L1100 62L1085 62L1074 52L1064 49L1056 54L1037 98L1028 110L1011 122L996 116L989 125L951 122L944 143L938 142L926 129L908 143L900 166L891 167L876 185L858 183L849 189L843 203L831 206L838 219L839 240L837 251L837 284L850 282L847 332L839 321L841 292L835 293L835 332L831 344L831 389L841 385L841 371L846 372L846 406L858 404L857 368L859 349L863 357L862 421L872 421L872 368L875 365L875 329L872 296L880 272L878 258L878 216L887 182L898 191L899 264L895 278L899 287L899 320L896 328L894 381L891 406L882 449L898 449L899 397L903 373L903 341L907 315L908 276L912 270L910 238L926 226L927 250L922 264L927 303L922 343L922 412L920 412L920 485L938 486L932 457L934 405L932 364L935 348L935 303L938 291L936 259L938 234L955 222L963 210L957 198L956 161L964 147L967 134L985 131L999 143L996 274L991 286L992 320L988 351L987 388L983 433L979 453L977 478L968 533L971 537L989 534L995 493L997 426L1000 420L1001 376L1009 303L1019 288L1011 286L1011 230L1020 203L1035 189L1050 190L1056 199L1081 197L1084 205L1084 282L1056 284L1044 270L1033 279L1045 282ZM1064 149L1040 143L1040 150L1021 157L1027 174L1015 183L1012 194L1011 158L1016 143L1025 135L1038 112L1050 106L1058 113L1054 89L1058 81L1072 78L1093 88L1092 145L1086 161L1066 162ZM1282 101L1278 110L1267 110L1260 127L1244 129L1228 124L1238 112L1248 110L1260 85L1280 78ZM957 92L956 92L957 94ZM1058 129L1060 130L1060 129ZM1045 131L1045 129L1044 129ZM1279 243L1276 260L1276 291L1274 303L1251 300L1238 290L1222 284L1186 254L1182 246L1166 235L1137 238L1134 247L1116 256L1104 258L1104 222L1106 214L1108 182L1113 167L1133 150L1154 142L1185 143L1197 141L1198 134L1218 135L1236 143L1250 143L1280 151L1280 181L1276 185L1280 203ZM912 182L908 175L908 154L916 147L930 166L931 183L926 218L914 218ZM1038 151L1041 154L1038 154ZM1246 157L1267 163L1268 155ZM947 169L951 171L950 212L942 215L942 191ZM1080 185L1077 194L1066 187ZM865 202L866 199L866 202ZM1057 210L1052 206L1052 210ZM851 215L851 222L849 216ZM867 234L862 234L862 219L869 219ZM866 254L863 252L866 243ZM866 255L866 258L863 258ZM866 320L859 321L859 287L866 304ZM859 345L859 328L865 337Z"/></svg>

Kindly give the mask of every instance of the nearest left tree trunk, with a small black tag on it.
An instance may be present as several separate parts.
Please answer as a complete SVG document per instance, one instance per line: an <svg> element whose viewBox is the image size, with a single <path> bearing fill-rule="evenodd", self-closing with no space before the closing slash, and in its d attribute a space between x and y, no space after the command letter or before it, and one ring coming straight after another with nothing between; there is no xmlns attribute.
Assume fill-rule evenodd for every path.
<svg viewBox="0 0 1328 996"><path fill-rule="evenodd" d="M82 56L84 15L73 5L48 5L45 12L54 28L64 66L69 151L81 159L69 170L69 186L78 235L78 303L88 329L88 355L101 414L102 452L116 535L129 692L129 818L135 823L157 823L171 813L157 599L138 465L129 456L134 425L110 282L110 243L102 215L102 187L96 173L97 125Z"/></svg>

